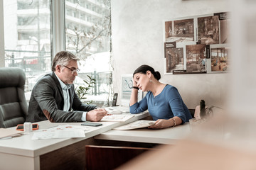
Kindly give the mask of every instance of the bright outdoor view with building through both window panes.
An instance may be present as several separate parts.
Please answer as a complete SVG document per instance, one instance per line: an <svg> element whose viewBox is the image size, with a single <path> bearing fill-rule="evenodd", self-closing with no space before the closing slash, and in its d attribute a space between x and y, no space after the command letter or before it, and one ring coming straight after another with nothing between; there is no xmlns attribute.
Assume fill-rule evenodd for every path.
<svg viewBox="0 0 256 170"><path fill-rule="evenodd" d="M51 72L51 0L4 0L4 64L26 73L26 99L36 81ZM92 9L97 8L97 11ZM65 49L80 57L81 72L75 86L87 75L96 79L88 100L106 104L111 98L110 0L65 1ZM90 18L88 20L88 18ZM111 99L110 99L111 100Z"/></svg>

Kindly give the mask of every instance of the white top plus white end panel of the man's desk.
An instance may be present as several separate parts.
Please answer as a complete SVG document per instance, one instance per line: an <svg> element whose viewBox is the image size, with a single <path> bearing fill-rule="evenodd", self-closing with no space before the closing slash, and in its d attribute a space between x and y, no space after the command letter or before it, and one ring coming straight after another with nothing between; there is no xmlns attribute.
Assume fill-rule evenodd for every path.
<svg viewBox="0 0 256 170"><path fill-rule="evenodd" d="M124 113L130 114L130 113ZM0 164L1 169L40 169L40 156L56 149L73 145L75 142L87 140L90 137L107 132L120 125L132 123L148 116L149 113L139 113L126 122L101 122L102 126L91 127L85 131L85 137L63 138L50 140L31 140L33 134L12 137L0 140ZM39 129L53 128L58 125L81 125L81 123L50 123L50 121L38 122ZM16 127L14 127L16 128ZM15 164L14 164L15 162Z"/></svg>

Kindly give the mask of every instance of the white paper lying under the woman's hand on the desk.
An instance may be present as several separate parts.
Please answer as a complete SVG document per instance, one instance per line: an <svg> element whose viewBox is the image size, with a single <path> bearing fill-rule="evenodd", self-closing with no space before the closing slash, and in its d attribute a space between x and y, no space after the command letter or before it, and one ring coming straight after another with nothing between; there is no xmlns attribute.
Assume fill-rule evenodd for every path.
<svg viewBox="0 0 256 170"><path fill-rule="evenodd" d="M154 125L154 120L137 120L133 123L129 123L127 125L122 125L117 128L114 128L114 130L132 130L132 129L138 129L138 128L146 128L151 125Z"/></svg>

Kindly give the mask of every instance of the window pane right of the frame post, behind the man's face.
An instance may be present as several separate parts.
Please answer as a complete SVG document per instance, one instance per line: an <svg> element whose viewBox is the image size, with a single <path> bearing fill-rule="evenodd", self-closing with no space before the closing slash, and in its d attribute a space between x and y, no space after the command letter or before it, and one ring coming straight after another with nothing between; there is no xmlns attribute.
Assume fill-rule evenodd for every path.
<svg viewBox="0 0 256 170"><path fill-rule="evenodd" d="M80 4L86 8L78 8ZM72 6L77 7L72 8ZM106 104L107 97L111 96L110 0L74 1L66 3L65 8L72 9L73 13L80 13L80 16L73 15L77 19L70 19L66 13L66 50L80 57L79 68L81 71L78 74L78 79L87 79L87 75L96 79L96 84L90 94L87 94L87 99L95 101L95 104L101 106L101 104ZM95 12L98 9L103 12L88 13L88 9Z"/></svg>

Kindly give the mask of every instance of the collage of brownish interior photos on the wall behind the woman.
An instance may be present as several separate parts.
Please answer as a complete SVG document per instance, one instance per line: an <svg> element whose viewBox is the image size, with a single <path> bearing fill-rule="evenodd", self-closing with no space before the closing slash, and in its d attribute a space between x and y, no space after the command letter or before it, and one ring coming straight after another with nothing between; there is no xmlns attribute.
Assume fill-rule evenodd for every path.
<svg viewBox="0 0 256 170"><path fill-rule="evenodd" d="M164 21L165 74L228 71L228 12Z"/></svg>

